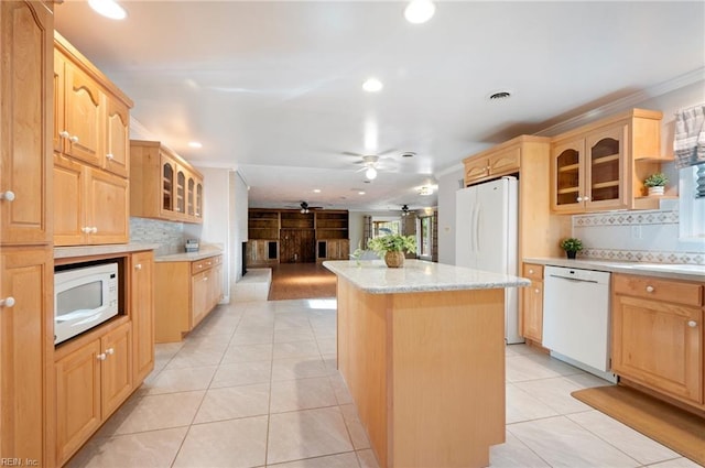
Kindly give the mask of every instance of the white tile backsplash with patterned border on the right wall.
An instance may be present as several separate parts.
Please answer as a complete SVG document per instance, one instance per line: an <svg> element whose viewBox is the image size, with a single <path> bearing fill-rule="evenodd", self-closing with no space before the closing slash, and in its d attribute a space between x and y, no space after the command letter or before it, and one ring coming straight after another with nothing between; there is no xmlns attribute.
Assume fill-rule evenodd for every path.
<svg viewBox="0 0 705 468"><path fill-rule="evenodd" d="M650 263L705 264L705 253L679 242L677 206L573 216L573 236L583 240L579 257Z"/></svg>

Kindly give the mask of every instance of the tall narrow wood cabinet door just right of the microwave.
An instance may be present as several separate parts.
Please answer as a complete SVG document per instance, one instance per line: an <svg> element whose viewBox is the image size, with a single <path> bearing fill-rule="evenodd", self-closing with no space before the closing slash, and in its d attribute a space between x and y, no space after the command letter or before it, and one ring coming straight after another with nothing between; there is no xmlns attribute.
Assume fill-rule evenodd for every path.
<svg viewBox="0 0 705 468"><path fill-rule="evenodd" d="M154 369L154 254L132 254L131 308L134 382Z"/></svg>

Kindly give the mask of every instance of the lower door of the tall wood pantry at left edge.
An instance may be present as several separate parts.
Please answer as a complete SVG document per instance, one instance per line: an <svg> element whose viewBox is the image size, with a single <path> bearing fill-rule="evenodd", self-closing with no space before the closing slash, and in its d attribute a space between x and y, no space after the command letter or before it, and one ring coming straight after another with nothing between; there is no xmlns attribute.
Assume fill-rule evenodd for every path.
<svg viewBox="0 0 705 468"><path fill-rule="evenodd" d="M0 249L0 454L11 457L0 458L0 465L15 457L45 465L53 273L51 248Z"/></svg>

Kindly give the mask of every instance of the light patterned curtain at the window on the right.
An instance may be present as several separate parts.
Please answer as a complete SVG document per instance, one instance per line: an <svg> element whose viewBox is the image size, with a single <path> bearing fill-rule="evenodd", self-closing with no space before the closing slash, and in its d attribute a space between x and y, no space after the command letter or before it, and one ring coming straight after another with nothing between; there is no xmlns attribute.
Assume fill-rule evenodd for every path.
<svg viewBox="0 0 705 468"><path fill-rule="evenodd" d="M676 112L673 153L677 167L705 163L705 104Z"/></svg>

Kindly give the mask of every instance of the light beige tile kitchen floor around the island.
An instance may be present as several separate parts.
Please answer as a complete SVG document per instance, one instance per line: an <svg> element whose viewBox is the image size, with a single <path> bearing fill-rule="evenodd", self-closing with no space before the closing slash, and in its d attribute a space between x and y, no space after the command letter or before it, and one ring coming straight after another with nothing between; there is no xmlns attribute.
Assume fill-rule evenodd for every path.
<svg viewBox="0 0 705 468"><path fill-rule="evenodd" d="M573 399L607 382L523 345L507 348L507 443L492 467L697 467ZM335 369L335 301L219 306L70 467L377 467Z"/></svg>

